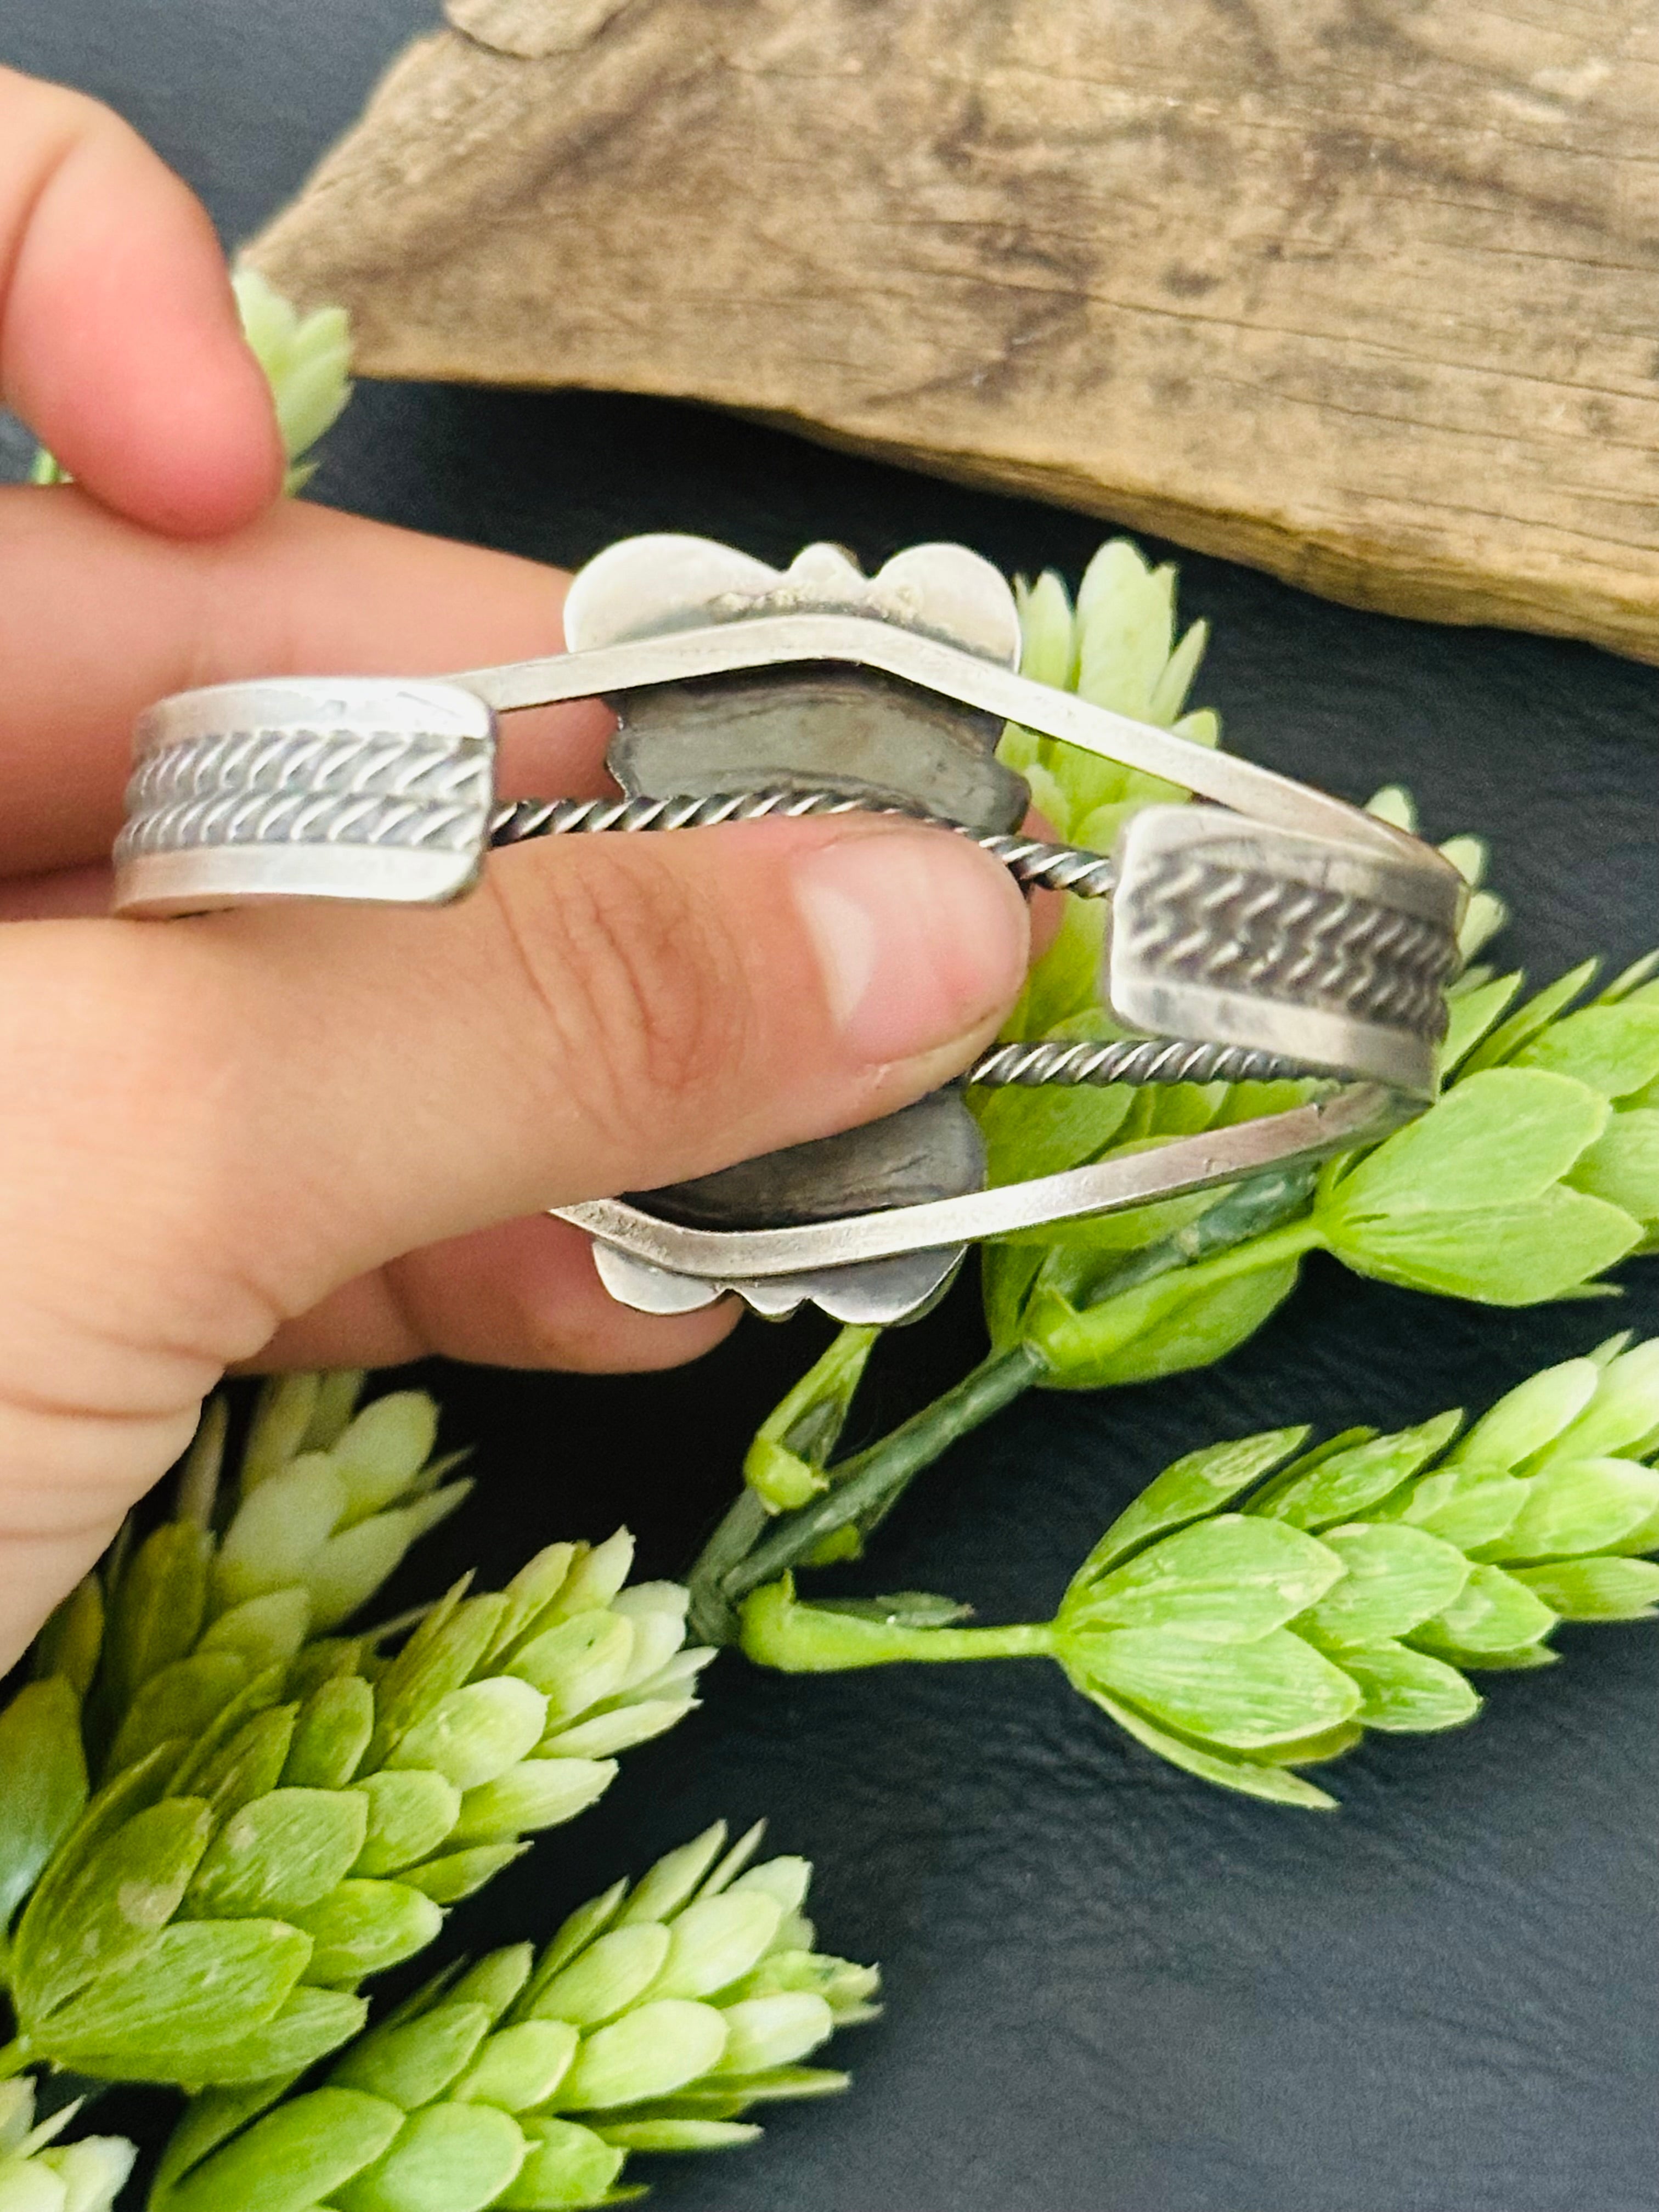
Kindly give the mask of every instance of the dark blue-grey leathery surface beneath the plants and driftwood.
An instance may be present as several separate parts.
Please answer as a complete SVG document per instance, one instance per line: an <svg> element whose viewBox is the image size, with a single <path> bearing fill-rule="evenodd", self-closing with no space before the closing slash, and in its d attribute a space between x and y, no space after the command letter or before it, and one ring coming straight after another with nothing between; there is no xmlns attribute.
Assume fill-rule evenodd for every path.
<svg viewBox="0 0 1659 2212"><path fill-rule="evenodd" d="M0 58L113 102L234 241L434 13L0 0ZM11 473L22 451L13 438ZM867 564L958 538L1075 580L1102 535L591 394L365 387L314 493L566 564L686 529L768 560L834 538ZM1509 953L1540 980L1659 936L1652 670L1354 615L1197 557L1183 608L1214 624L1199 697L1230 745L1354 799L1405 779L1431 832L1493 838L1517 909ZM1287 1420L1482 1402L1621 1323L1659 1327L1659 1265L1630 1270L1621 1305L1489 1314L1316 1263L1210 1374L1004 1413L918 1484L872 1586L1046 1615L1172 1455ZM438 1371L482 1482L407 1590L465 1564L507 1575L531 1542L624 1515L648 1573L681 1571L750 1429L821 1340L807 1321L748 1323L653 1380ZM973 1356L958 1290L887 1347L863 1429ZM790 1681L726 1659L706 1710L462 1907L447 1942L544 1933L719 1814L765 1812L781 1849L816 1860L823 1938L883 1960L887 2017L836 2053L852 2097L783 2110L759 2150L657 2161L677 2212L1637 2212L1659 2205L1659 1632L1559 1644L1559 1668L1493 1679L1471 1732L1349 1756L1325 1818L1170 1772L1040 1666Z"/></svg>

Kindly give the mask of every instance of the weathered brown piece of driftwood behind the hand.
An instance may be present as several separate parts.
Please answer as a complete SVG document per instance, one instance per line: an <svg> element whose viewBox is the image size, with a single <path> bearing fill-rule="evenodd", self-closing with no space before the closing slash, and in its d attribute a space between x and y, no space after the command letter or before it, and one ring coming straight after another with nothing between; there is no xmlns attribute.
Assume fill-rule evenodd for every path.
<svg viewBox="0 0 1659 2212"><path fill-rule="evenodd" d="M681 394L1659 659L1652 0L449 0L252 259L372 376Z"/></svg>

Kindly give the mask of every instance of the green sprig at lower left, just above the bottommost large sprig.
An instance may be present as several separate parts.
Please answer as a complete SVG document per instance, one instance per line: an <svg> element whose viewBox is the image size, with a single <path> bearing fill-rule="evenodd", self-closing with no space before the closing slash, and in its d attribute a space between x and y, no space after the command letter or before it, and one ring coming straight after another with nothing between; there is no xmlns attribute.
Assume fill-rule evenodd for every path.
<svg viewBox="0 0 1659 2212"><path fill-rule="evenodd" d="M206 1725L195 1679L177 1705L146 1683L18 1920L9 2066L237 2084L338 2048L365 1975L692 1708L686 1593L624 1588L630 1557L626 1533L549 1546L394 1659L276 1648Z"/></svg>

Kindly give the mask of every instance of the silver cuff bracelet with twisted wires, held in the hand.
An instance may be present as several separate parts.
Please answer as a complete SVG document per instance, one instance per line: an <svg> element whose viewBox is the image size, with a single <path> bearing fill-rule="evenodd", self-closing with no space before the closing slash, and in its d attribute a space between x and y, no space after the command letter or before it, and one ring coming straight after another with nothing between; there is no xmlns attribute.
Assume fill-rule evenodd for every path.
<svg viewBox="0 0 1659 2212"><path fill-rule="evenodd" d="M874 577L834 546L787 571L633 538L566 599L568 653L442 679L283 677L153 706L137 728L115 911L270 898L438 905L491 845L876 807L975 838L1022 883L1110 900L1102 993L1128 1035L1004 1044L962 1084L1323 1077L1310 1104L984 1188L962 1084L841 1137L560 1208L613 1296L688 1312L909 1321L975 1239L1117 1212L1369 1141L1436 1086L1464 887L1438 852L1272 770L1018 675L1002 573L911 546ZM617 801L495 803L495 717L604 697ZM1020 834L1004 723L1194 794L1110 854Z"/></svg>

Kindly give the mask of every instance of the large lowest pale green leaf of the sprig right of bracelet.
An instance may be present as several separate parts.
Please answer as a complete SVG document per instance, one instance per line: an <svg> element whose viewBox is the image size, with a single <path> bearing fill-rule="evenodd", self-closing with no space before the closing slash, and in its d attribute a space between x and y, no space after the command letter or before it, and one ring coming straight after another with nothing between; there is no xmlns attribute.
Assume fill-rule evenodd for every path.
<svg viewBox="0 0 1659 2212"><path fill-rule="evenodd" d="M1542 1305L1624 1259L1641 1228L1617 1206L1557 1183L1515 1206L1347 1219L1327 1228L1327 1241L1347 1267L1380 1283L1482 1305Z"/></svg>

